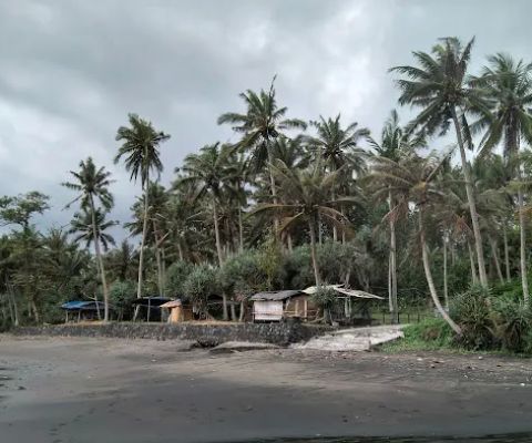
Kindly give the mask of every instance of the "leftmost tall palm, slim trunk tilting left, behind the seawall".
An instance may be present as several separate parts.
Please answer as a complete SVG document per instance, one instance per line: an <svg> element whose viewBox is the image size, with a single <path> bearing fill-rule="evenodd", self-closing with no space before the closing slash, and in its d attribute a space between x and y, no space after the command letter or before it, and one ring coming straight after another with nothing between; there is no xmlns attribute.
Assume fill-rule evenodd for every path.
<svg viewBox="0 0 532 443"><path fill-rule="evenodd" d="M113 196L109 192L109 186L113 181L110 179L111 173L105 168L96 167L91 157L86 161L80 162L80 171L71 171L70 174L74 182L64 182L63 186L79 193L71 203L66 205L70 207L73 203L80 202L81 208L91 217L92 241L94 241L94 250L96 254L98 268L100 278L102 279L103 302L104 302L104 321L109 321L109 288L105 280L105 269L103 266L102 254L100 250L98 216L102 213L96 208L95 200L99 200L104 212L109 212L113 207ZM100 213L99 213L100 210Z"/></svg>

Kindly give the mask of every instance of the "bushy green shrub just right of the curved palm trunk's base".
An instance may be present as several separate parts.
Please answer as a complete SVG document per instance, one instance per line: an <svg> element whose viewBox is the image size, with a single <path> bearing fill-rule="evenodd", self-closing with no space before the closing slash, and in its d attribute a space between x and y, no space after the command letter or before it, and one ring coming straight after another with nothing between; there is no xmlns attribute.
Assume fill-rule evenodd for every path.
<svg viewBox="0 0 532 443"><path fill-rule="evenodd" d="M488 349L493 344L489 297L487 289L472 286L452 299L451 318L462 328L462 334L457 340L468 349Z"/></svg>

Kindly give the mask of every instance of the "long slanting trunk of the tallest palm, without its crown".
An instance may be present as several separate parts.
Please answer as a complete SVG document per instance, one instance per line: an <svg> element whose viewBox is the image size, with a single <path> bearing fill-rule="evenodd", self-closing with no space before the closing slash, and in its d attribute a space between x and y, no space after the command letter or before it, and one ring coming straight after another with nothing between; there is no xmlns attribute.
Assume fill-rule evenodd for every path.
<svg viewBox="0 0 532 443"><path fill-rule="evenodd" d="M458 121L457 110L451 109L452 121L454 122L454 130L457 132L458 147L460 148L460 158L462 162L463 177L466 179L466 194L468 195L469 212L471 213L471 223L473 225L474 246L477 249L477 261L479 265L479 277L482 287L488 288L488 277L485 275L484 250L482 246L482 236L480 234L479 214L477 213L477 204L474 202L473 183L471 181L471 172L469 171L469 163L466 157L466 147L463 146L462 130Z"/></svg>

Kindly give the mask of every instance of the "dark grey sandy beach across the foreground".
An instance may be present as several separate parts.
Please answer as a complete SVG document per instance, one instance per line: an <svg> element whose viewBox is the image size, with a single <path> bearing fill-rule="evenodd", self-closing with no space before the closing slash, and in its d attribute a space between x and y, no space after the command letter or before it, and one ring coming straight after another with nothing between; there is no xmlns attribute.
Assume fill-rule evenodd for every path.
<svg viewBox="0 0 532 443"><path fill-rule="evenodd" d="M530 360L0 336L2 443L529 431Z"/></svg>

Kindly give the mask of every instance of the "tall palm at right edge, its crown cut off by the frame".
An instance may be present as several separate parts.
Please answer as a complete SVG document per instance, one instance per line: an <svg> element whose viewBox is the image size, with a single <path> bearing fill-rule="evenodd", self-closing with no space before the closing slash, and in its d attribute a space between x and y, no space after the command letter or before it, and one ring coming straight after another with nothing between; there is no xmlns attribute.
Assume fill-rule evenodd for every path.
<svg viewBox="0 0 532 443"><path fill-rule="evenodd" d="M490 110L477 122L485 128L481 142L481 153L491 152L499 143L503 144L504 158L509 166L509 177L521 182L521 167L516 165L521 141L532 145L532 63L514 61L510 55L498 53L488 58L489 65L473 80L489 100ZM516 173L516 174L515 174ZM529 281L526 278L526 233L524 196L518 186L518 210L520 225L520 265L523 298L529 303Z"/></svg>

